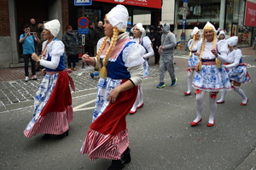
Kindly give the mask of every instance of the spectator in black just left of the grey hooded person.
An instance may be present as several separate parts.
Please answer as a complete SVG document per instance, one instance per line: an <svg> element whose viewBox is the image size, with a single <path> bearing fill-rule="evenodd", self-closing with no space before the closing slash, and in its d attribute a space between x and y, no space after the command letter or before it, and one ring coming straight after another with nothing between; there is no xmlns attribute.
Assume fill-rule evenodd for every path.
<svg viewBox="0 0 256 170"><path fill-rule="evenodd" d="M163 32L162 29L160 27L157 27L156 32L154 33L154 43L153 43L154 65L159 65L159 61L160 61L159 47L161 45L162 32Z"/></svg>

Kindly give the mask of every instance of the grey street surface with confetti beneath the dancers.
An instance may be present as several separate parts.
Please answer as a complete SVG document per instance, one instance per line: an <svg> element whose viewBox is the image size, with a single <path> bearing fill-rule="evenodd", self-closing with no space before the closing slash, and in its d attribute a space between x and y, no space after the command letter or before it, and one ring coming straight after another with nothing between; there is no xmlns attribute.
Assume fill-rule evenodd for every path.
<svg viewBox="0 0 256 170"><path fill-rule="evenodd" d="M145 105L136 114L126 116L131 163L124 169L256 169L255 82L241 85L249 99L245 106L240 105L241 96L234 90L227 93L225 103L218 104L213 127L207 127L207 93L203 121L196 127L190 127L189 122L195 119L196 112L195 94L183 95L187 90L187 59L178 56L174 60L178 79L175 87L170 86L170 76L166 73L166 88L156 88L159 83L158 67L153 65L153 60L150 63L150 77L142 84ZM256 81L255 56L246 55L243 62L249 64L247 70ZM23 80L1 82L2 87L6 87L5 96L21 95L20 99L24 98L23 101L19 97L13 98L18 102L8 98L0 105L1 170L108 168L110 160L90 161L86 155L79 154L96 99L98 79L90 79L90 71L84 69L73 74L77 88L73 93L74 120L70 123L69 135L64 139L43 140L43 134L28 139L23 135L26 124L32 119L32 97L42 78L28 83ZM15 86L14 92L8 92L10 85Z"/></svg>

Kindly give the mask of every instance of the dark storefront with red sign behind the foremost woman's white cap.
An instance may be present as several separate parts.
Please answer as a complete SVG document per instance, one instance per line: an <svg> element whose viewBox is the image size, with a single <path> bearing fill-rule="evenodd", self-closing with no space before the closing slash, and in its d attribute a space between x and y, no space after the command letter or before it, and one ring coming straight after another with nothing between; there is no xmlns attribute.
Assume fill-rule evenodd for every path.
<svg viewBox="0 0 256 170"><path fill-rule="evenodd" d="M157 26L160 22L161 15L161 1L154 0L128 0L128 1L113 1L113 0L93 0L92 5L84 6L84 12L82 6L74 6L73 0L68 1L69 7L69 23L73 26L73 29L79 29L77 19L81 16L87 17L90 22L97 23L100 20L104 20L105 14L107 14L111 8L117 4L123 4L128 9L130 14L129 21L134 23L134 17L140 14L150 14L150 20L148 26Z"/></svg>

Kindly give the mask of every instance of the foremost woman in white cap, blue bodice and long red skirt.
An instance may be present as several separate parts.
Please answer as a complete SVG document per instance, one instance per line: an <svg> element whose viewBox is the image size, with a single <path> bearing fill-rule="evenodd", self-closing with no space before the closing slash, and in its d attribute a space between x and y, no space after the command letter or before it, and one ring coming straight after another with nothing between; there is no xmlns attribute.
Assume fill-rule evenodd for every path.
<svg viewBox="0 0 256 170"><path fill-rule="evenodd" d="M82 59L101 67L93 122L85 135L81 154L91 161L112 160L108 170L119 170L131 161L125 116L137 98L137 85L143 80L143 47L130 40L125 32L129 14L117 5L106 14L106 37L97 43L96 58L84 54Z"/></svg>

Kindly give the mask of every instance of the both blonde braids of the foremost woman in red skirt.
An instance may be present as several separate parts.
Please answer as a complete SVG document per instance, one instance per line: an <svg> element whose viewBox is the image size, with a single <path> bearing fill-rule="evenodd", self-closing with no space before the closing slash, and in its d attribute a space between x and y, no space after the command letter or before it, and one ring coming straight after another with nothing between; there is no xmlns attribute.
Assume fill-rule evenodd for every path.
<svg viewBox="0 0 256 170"><path fill-rule="evenodd" d="M96 55L96 59L100 62L100 77L102 78L106 78L108 77L108 70L107 70L107 65L108 65L108 59L110 58L110 54L112 53L113 51L113 47L115 46L116 44L116 41L117 41L117 38L118 38L118 35L119 35L119 29L116 27L116 26L113 26L113 37L111 39L111 42L110 42L110 46L108 48L108 51L106 53L106 56L104 57L103 61L102 61L102 64L100 62L100 56L102 54L102 51L103 49L105 48L106 44L107 44L107 40L109 37L105 37L103 42L102 42L102 45ZM102 66L103 65L103 66Z"/></svg>

